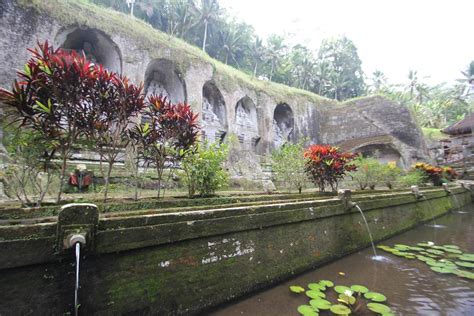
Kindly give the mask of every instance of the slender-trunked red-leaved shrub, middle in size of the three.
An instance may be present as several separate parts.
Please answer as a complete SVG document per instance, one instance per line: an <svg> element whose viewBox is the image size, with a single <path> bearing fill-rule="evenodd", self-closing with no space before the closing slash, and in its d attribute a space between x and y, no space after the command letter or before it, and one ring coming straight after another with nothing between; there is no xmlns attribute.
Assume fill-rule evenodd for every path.
<svg viewBox="0 0 474 316"><path fill-rule="evenodd" d="M186 155L197 140L199 127L197 114L187 104L172 104L161 95L150 96L146 103L146 119L136 125L131 137L139 147L140 158L155 165L159 198L165 167L172 167Z"/></svg>

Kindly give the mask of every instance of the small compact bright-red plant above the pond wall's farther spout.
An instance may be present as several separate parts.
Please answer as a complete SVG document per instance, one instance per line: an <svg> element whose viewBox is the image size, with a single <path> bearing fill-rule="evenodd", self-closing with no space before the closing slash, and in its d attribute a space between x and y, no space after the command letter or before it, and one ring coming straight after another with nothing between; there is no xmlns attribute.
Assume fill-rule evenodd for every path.
<svg viewBox="0 0 474 316"><path fill-rule="evenodd" d="M357 169L350 163L357 154L341 152L330 145L311 145L305 150L304 157L305 171L321 192L328 186L333 192L336 191L346 172Z"/></svg>

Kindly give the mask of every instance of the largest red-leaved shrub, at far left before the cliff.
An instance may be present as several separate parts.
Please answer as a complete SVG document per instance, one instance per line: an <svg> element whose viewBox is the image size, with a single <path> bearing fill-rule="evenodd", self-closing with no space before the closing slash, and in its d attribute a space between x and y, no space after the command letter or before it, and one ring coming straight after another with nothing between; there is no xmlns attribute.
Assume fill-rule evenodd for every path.
<svg viewBox="0 0 474 316"><path fill-rule="evenodd" d="M19 128L41 134L61 158L59 202L66 163L79 139L103 141L101 131L107 131L109 145L118 145L117 135L111 134L123 131L119 126L127 125L129 116L140 110L142 88L89 62L83 54L54 49L48 42L29 51L32 57L18 72L12 91L0 89L0 102ZM108 157L109 175L114 160Z"/></svg>

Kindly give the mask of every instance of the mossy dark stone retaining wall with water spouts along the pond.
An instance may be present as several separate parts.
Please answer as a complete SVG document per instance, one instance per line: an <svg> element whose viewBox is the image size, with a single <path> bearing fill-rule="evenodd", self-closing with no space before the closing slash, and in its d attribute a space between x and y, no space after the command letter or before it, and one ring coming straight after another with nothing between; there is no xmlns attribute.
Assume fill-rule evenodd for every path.
<svg viewBox="0 0 474 316"><path fill-rule="evenodd" d="M353 198L378 241L471 203L470 192L451 191L456 201L440 189L424 191L427 200L409 192ZM367 247L360 214L344 205L288 201L91 223L79 207L58 222L0 225L0 314L72 311L74 259L72 249L62 250L66 230L89 230L82 314L189 315Z"/></svg>

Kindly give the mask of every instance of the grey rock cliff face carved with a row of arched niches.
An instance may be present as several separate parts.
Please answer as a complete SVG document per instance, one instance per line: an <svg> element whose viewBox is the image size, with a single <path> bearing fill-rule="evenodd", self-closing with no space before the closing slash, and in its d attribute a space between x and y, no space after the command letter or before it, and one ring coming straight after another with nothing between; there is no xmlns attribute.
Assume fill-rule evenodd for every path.
<svg viewBox="0 0 474 316"><path fill-rule="evenodd" d="M236 175L260 177L260 162L272 149L302 137L345 149L377 150L401 166L426 157L410 113L381 97L338 104L260 81L141 21L76 1L3 0L0 18L0 86L10 87L15 70L29 57L26 49L37 41L82 51L90 60L143 82L146 93L188 102L201 114L203 138L222 141L235 135L233 160L247 165L231 168Z"/></svg>

